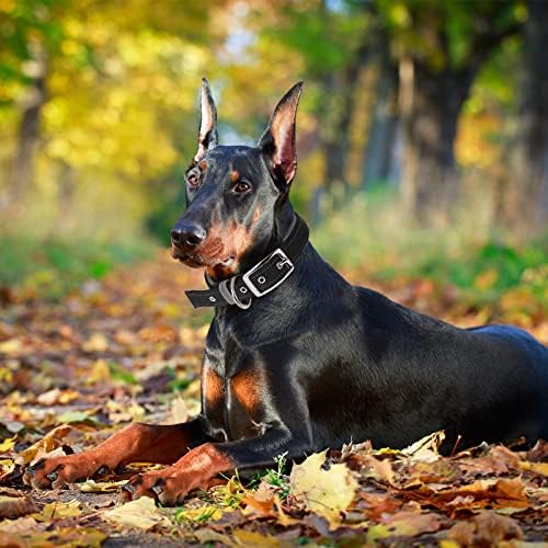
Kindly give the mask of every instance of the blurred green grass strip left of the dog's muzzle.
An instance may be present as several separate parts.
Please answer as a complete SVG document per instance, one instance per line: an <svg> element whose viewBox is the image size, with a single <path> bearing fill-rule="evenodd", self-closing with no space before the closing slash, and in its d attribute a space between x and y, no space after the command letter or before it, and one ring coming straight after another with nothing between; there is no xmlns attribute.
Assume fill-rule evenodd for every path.
<svg viewBox="0 0 548 548"><path fill-rule="evenodd" d="M146 238L100 241L52 237L45 240L0 235L0 286L26 295L60 298L87 279L101 278L117 264L151 256L156 246Z"/></svg>

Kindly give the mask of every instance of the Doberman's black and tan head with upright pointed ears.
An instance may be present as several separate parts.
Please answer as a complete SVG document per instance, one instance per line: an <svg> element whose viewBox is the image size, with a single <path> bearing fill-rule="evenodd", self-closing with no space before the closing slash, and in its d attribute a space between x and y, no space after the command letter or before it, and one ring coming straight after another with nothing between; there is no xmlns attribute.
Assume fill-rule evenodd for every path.
<svg viewBox="0 0 548 548"><path fill-rule="evenodd" d="M297 170L301 88L299 82L283 96L255 147L221 146L204 79L198 149L185 173L186 210L171 231L173 258L221 278L237 273L252 250L267 246Z"/></svg>

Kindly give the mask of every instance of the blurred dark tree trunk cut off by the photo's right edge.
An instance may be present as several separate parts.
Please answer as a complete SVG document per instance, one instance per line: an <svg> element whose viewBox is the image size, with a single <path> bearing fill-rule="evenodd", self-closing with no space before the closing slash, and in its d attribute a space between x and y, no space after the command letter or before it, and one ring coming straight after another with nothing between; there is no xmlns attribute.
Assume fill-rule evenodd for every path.
<svg viewBox="0 0 548 548"><path fill-rule="evenodd" d="M518 141L512 158L507 216L534 232L548 224L548 9L529 0L525 24Z"/></svg>

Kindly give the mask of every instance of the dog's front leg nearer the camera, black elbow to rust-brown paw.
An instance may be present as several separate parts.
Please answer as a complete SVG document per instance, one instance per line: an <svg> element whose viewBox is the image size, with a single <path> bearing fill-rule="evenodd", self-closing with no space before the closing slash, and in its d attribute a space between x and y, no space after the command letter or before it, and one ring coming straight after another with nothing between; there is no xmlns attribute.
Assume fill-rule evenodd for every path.
<svg viewBox="0 0 548 548"><path fill-rule="evenodd" d="M260 437L227 443L206 443L192 449L173 466L161 471L136 476L124 486L125 499L147 495L165 505L181 503L192 489L204 487L220 472L264 467L276 456L298 458L311 450L308 435L292 434L286 427L274 426Z"/></svg>

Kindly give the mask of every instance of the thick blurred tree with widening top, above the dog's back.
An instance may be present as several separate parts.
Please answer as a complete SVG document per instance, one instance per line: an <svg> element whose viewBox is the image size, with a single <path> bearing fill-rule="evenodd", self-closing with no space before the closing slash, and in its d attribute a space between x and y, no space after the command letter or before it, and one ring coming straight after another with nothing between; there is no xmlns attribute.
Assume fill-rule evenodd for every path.
<svg viewBox="0 0 548 548"><path fill-rule="evenodd" d="M379 5L400 64L404 203L418 221L443 222L458 195L458 117L484 61L520 31L516 2L379 0Z"/></svg>

